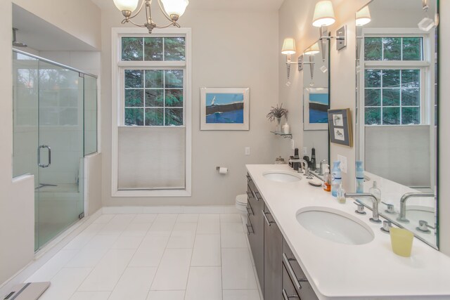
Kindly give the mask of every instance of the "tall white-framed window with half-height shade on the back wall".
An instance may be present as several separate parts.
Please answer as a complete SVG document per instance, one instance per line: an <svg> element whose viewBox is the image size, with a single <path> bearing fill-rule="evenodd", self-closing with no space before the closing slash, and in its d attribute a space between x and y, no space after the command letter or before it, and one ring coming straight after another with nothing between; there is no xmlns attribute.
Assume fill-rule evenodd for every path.
<svg viewBox="0 0 450 300"><path fill-rule="evenodd" d="M191 195L190 30L113 32L113 196Z"/></svg>

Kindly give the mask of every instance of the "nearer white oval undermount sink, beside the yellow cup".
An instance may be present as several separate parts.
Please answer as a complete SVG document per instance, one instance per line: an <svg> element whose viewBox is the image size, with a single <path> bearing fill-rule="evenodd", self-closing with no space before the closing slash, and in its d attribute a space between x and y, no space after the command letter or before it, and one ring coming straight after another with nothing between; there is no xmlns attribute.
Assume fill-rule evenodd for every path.
<svg viewBox="0 0 450 300"><path fill-rule="evenodd" d="M328 207L300 209L297 221L314 235L340 244L366 244L375 237L364 222Z"/></svg>

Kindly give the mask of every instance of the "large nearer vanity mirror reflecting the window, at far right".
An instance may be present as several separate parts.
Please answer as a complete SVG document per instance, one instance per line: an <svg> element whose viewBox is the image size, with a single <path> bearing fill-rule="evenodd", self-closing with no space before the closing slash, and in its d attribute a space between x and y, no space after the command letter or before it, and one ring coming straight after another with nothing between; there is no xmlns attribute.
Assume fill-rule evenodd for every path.
<svg viewBox="0 0 450 300"><path fill-rule="evenodd" d="M436 249L437 5L373 0L356 12L356 159L364 164L364 193L376 192L376 181L380 214Z"/></svg>

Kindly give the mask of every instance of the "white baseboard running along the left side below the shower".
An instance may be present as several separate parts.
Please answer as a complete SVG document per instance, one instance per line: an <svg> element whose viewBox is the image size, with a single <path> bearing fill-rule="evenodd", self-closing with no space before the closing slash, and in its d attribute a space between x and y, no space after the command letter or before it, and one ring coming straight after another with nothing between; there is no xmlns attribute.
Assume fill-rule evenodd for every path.
<svg viewBox="0 0 450 300"><path fill-rule="evenodd" d="M4 296L6 293L8 293L14 285L25 282L25 280L30 278L30 276L33 275L34 272L39 270L41 266L44 266L47 261L49 261L56 253L58 253L58 251L60 251L60 249L63 249L66 244L73 240L74 237L79 235L79 233L86 229L87 226L94 222L94 220L101 216L101 214L101 209L98 209L98 211L96 211L94 214L77 221L77 223L74 223L68 229L63 231L63 233L49 242L49 244L46 244L44 247L39 249L39 251L34 254L34 259L30 261L27 266L19 270L18 273L15 273L15 275L13 275L5 282L1 283L0 296Z"/></svg>

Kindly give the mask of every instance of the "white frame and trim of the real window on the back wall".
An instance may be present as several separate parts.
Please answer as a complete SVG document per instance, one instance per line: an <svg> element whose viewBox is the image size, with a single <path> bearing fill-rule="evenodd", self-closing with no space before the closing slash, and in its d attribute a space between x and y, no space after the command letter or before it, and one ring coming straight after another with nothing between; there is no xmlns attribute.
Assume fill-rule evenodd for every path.
<svg viewBox="0 0 450 300"><path fill-rule="evenodd" d="M122 61L122 37L180 37L185 39L185 61ZM111 29L112 56L112 122L111 122L111 196L112 197L191 197L192 194L192 53L191 28L155 29L151 35L146 28L115 27ZM145 66L144 66L145 65ZM124 126L124 70L182 69L184 70L183 122L186 128L186 186L182 190L119 190L118 187L118 131ZM141 127L141 126L139 126ZM158 126L170 127L170 126Z"/></svg>

